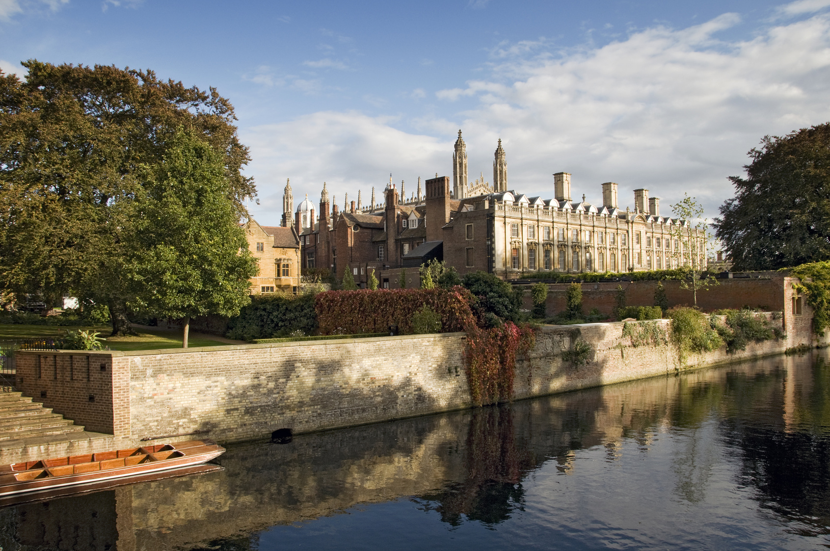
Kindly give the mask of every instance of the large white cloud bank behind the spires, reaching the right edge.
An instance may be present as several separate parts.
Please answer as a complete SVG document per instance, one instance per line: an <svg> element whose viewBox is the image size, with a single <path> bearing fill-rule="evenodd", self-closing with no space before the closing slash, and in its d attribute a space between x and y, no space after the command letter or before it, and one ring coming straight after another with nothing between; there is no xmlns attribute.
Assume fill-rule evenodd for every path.
<svg viewBox="0 0 830 551"><path fill-rule="evenodd" d="M726 177L742 172L764 134L830 120L830 16L769 27L746 41L715 36L738 21L725 14L553 53L542 39L502 44L486 78L437 92L463 109L456 120L405 121L425 134L396 129L398 119L332 111L248 129L249 172L265 199L257 216L278 219L285 178L298 183L295 193L307 186L310 197L328 181L342 201L341 189L353 197L362 187L368 197L389 172L408 186L418 175L451 174L459 127L471 177L491 178L501 138L510 187L524 193L551 197L551 174L564 170L573 173L574 197L601 202L600 184L614 181L623 207L632 204L632 189L648 188L663 198L662 212L688 192L716 216L732 194Z"/></svg>

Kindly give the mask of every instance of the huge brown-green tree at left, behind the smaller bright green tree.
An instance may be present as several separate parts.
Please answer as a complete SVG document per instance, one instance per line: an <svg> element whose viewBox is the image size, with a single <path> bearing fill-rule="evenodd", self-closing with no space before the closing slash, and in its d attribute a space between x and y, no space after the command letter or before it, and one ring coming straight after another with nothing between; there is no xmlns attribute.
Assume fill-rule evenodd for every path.
<svg viewBox="0 0 830 551"><path fill-rule="evenodd" d="M24 80L0 73L0 290L109 305L113 334L128 334L134 202L178 129L221 155L239 216L256 193L232 105L153 71L23 66Z"/></svg>

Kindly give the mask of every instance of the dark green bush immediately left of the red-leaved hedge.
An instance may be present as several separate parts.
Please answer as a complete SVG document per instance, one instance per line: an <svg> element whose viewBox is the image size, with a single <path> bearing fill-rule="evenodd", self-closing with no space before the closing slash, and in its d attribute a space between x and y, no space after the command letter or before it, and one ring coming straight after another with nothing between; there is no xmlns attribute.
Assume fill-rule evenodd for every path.
<svg viewBox="0 0 830 551"><path fill-rule="evenodd" d="M335 291L336 292L336 291ZM294 331L315 334L316 295L259 295L227 323L227 338L237 340L286 337ZM384 328L385 329L385 328Z"/></svg>

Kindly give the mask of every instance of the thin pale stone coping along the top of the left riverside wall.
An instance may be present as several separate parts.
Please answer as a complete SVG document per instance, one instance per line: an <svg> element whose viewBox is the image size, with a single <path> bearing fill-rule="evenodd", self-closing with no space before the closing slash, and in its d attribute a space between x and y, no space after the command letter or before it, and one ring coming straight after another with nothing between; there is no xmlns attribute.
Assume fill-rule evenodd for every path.
<svg viewBox="0 0 830 551"><path fill-rule="evenodd" d="M320 339L320 340L299 340L287 343L266 343L266 344L227 344L225 346L198 346L188 349L149 349L149 350L18 350L17 354L63 354L79 355L89 354L102 358L123 358L125 356L158 356L159 354L189 354L203 352L222 352L226 350L253 350L253 349L282 349L293 346L320 346L320 344L352 344L352 343L374 343L383 341L395 341L403 339L434 339L436 337L452 338L466 337L463 331L455 333L432 333L432 334L401 334L388 337L365 337L355 339Z"/></svg>

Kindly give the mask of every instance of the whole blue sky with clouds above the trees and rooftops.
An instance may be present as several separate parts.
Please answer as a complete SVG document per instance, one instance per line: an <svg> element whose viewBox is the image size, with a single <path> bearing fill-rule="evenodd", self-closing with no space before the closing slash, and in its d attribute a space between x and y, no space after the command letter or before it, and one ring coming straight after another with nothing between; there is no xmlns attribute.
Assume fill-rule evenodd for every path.
<svg viewBox="0 0 830 551"><path fill-rule="evenodd" d="M0 68L27 59L216 87L264 225L287 178L342 206L452 177L459 129L471 180L501 139L518 193L564 171L574 199L617 182L623 208L647 188L715 217L764 135L830 121L830 0L0 0Z"/></svg>

